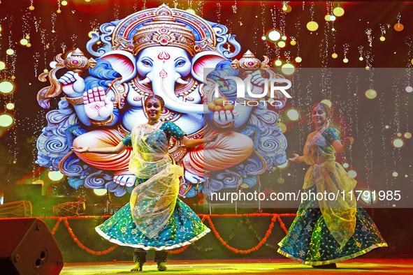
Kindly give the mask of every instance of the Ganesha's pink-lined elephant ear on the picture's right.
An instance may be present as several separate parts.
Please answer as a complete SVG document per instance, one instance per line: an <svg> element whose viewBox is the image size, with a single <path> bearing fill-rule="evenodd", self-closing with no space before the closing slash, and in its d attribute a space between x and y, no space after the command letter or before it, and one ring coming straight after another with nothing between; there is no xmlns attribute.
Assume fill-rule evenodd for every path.
<svg viewBox="0 0 413 275"><path fill-rule="evenodd" d="M192 69L191 73L194 78L199 82L203 82L204 70L210 69L210 71L215 70L215 66L223 60L227 60L221 54L212 51L199 52L192 59ZM209 73L209 72L208 72ZM207 73L207 74L208 74Z"/></svg>

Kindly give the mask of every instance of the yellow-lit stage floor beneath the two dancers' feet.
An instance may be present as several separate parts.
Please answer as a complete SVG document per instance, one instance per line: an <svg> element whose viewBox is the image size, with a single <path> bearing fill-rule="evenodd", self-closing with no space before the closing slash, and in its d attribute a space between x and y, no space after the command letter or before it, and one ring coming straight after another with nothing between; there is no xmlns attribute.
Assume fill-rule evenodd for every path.
<svg viewBox="0 0 413 275"><path fill-rule="evenodd" d="M413 259L354 259L339 262L337 269L314 269L291 260L238 259L168 261L168 270L157 271L149 261L140 274L413 274ZM65 263L60 274L136 274L132 262Z"/></svg>

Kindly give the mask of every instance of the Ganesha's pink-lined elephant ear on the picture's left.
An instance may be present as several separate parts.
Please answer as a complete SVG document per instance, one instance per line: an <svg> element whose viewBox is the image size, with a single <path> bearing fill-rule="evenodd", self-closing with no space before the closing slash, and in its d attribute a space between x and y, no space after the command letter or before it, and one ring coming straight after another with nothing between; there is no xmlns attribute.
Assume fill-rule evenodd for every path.
<svg viewBox="0 0 413 275"><path fill-rule="evenodd" d="M112 68L122 75L121 83L131 80L136 75L136 58L130 52L114 50L103 54L100 59L109 61Z"/></svg>

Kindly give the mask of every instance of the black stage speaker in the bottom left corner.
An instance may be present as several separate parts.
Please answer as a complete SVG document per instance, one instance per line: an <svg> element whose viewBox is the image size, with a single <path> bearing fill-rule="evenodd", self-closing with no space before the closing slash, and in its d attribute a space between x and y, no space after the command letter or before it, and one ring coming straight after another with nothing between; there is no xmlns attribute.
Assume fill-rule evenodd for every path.
<svg viewBox="0 0 413 275"><path fill-rule="evenodd" d="M63 268L59 246L39 218L1 218L0 238L0 274L54 275Z"/></svg>

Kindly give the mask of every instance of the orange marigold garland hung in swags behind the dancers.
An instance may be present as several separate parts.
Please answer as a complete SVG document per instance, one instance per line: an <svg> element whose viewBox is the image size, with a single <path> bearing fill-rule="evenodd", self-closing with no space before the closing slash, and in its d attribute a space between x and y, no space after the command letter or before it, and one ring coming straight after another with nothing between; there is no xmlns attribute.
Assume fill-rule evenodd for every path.
<svg viewBox="0 0 413 275"><path fill-rule="evenodd" d="M296 214L269 214L269 213L254 213L254 214L198 214L199 217L201 217L201 221L203 223L205 223L205 220L208 220L208 223L210 224L210 227L212 229L212 232L214 232L215 237L217 237L217 239L219 239L219 241L221 242L222 245L224 245L226 248L228 248L229 250L235 252L235 253L242 253L242 254L247 254L247 253L251 253L253 251L258 250L263 244L266 243L268 237L271 234L271 231L273 230L274 227L274 223L275 221L278 221L280 223L280 228L282 228L282 230L284 230L284 232L287 234L288 230L285 227L285 224L282 222L281 217L282 216L296 216ZM229 246L229 244L227 244L226 241L224 241L224 239L222 239L222 237L219 235L219 233L217 232L217 230L215 229L215 225L212 223L211 217L251 217L251 216L272 216L273 218L271 218L271 223L270 226L266 232L266 235L263 237L263 239L261 239L261 241L259 241L259 244L257 244L256 246L254 246L253 248L247 249L247 250L239 250L237 248L233 248L232 246ZM82 242L79 241L79 239L73 234L73 230L70 227L70 225L68 224L68 219L85 219L85 218L110 218L109 215L106 216L67 216L67 217L60 217L60 216L50 216L50 217L43 217L46 219L57 219L57 222L55 224L55 226L52 229L52 235L55 234L57 228L59 227L59 224L61 221L64 221L64 225L66 225L66 228L69 232L69 234L71 235L73 241L75 241L76 244L78 244L78 246L80 248L82 248L83 250L92 253L94 255L105 255L108 254L110 252L112 252L115 248L117 248L117 244L115 244L114 246L106 249L105 251L93 251L92 249L87 248L86 246L84 246L82 244ZM232 239L229 238L227 241L230 241ZM179 249L175 249L173 251L168 251L168 253L170 254L177 254L177 253L181 253L182 251L184 251L185 249L187 249L189 247L189 244L187 246L183 246L182 248Z"/></svg>

